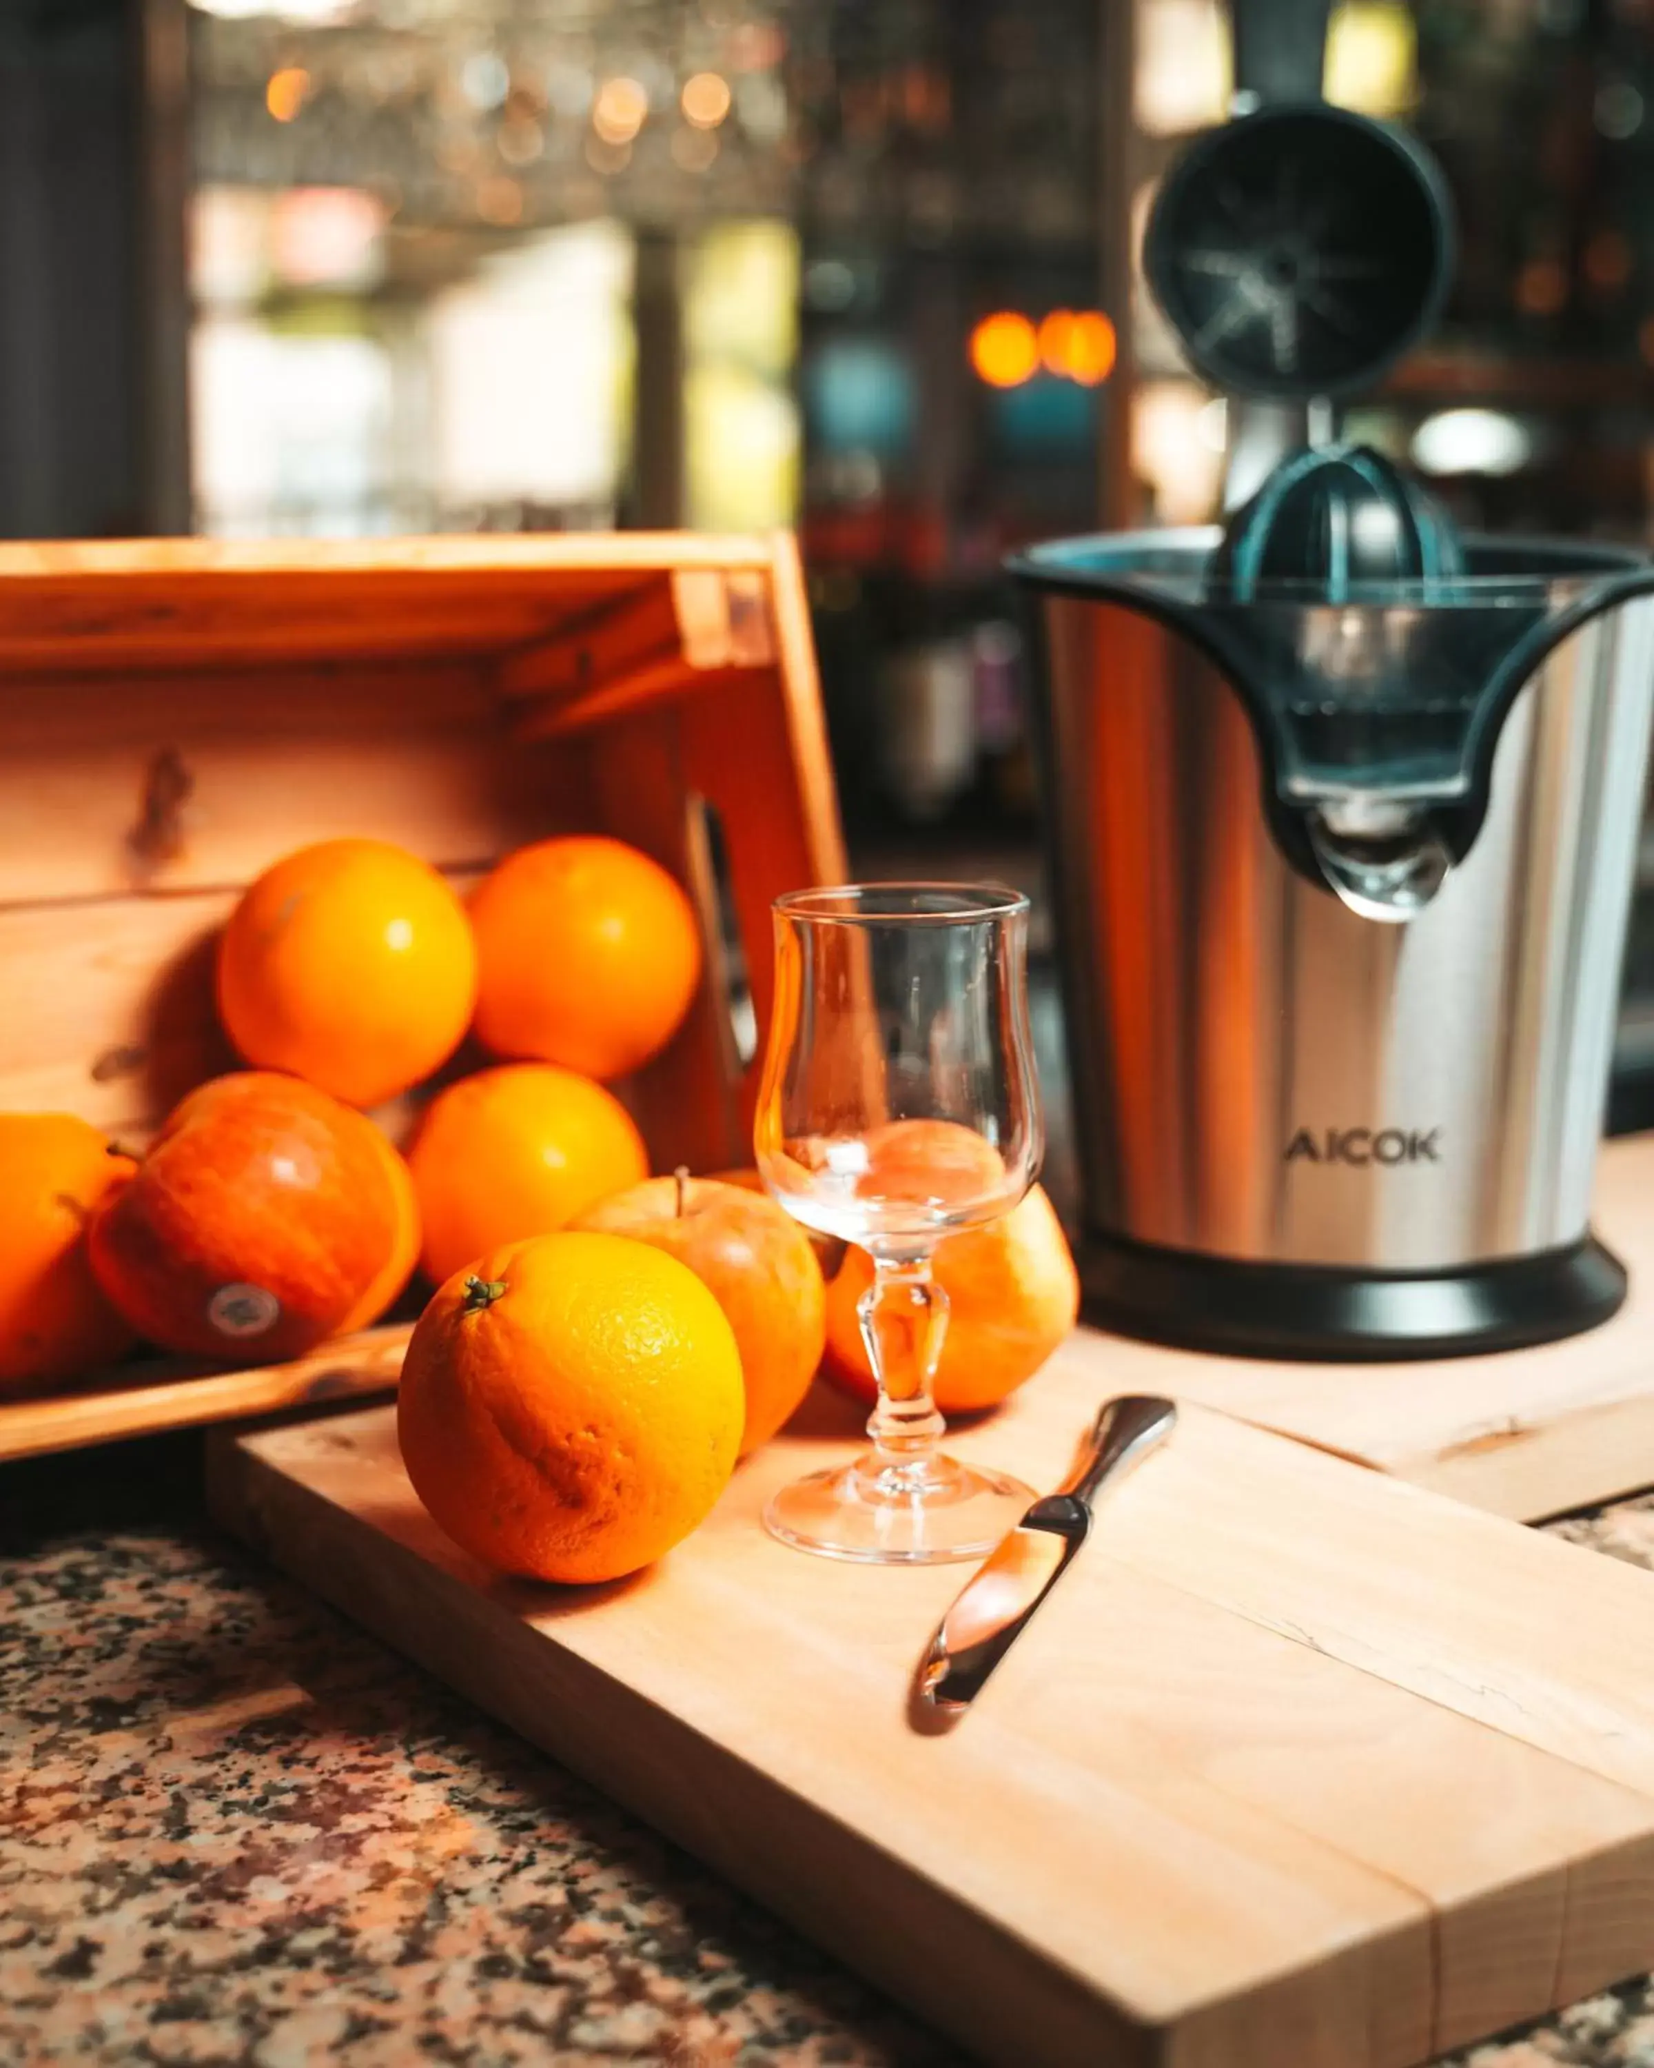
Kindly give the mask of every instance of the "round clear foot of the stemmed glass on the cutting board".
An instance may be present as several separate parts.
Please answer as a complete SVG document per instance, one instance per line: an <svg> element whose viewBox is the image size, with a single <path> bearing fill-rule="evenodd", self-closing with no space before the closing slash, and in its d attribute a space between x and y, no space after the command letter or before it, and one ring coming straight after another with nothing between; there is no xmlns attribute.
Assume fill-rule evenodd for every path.
<svg viewBox="0 0 1654 2068"><path fill-rule="evenodd" d="M831 1472L794 1479L771 1499L771 1537L864 1565L941 1565L986 1557L1036 1495L1007 1472L930 1456L891 1466L868 1452Z"/></svg>

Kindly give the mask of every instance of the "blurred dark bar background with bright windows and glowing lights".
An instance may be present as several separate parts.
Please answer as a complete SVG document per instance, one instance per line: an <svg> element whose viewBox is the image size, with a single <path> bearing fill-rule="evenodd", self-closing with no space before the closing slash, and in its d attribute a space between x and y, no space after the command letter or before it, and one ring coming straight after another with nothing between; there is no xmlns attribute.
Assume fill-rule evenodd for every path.
<svg viewBox="0 0 1654 2068"><path fill-rule="evenodd" d="M1342 0L1327 91L1462 246L1350 434L1648 542L1654 10ZM1218 0L10 0L0 531L798 525L856 869L1038 885L999 562L1216 509L1135 238L1226 97ZM1654 883L1627 980L1654 1121Z"/></svg>

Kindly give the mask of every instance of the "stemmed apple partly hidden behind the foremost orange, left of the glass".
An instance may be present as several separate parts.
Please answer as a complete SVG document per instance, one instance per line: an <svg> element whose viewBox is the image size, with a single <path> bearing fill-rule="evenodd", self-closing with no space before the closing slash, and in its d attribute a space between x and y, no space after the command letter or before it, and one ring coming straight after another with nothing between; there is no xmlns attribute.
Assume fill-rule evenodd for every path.
<svg viewBox="0 0 1654 2068"><path fill-rule="evenodd" d="M577 1224L653 1243L711 1288L746 1381L740 1454L767 1443L810 1390L827 1342L821 1266L798 1222L744 1185L680 1170L600 1202Z"/></svg>

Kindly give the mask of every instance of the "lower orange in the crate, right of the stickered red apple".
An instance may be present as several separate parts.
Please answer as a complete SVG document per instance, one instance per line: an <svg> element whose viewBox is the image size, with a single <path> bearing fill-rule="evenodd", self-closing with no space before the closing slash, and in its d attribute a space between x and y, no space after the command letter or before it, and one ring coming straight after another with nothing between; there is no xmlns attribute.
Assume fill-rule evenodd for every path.
<svg viewBox="0 0 1654 2068"><path fill-rule="evenodd" d="M649 1175L620 1100L571 1069L507 1063L432 1100L407 1162L420 1195L426 1276L438 1284L484 1249L552 1235Z"/></svg>

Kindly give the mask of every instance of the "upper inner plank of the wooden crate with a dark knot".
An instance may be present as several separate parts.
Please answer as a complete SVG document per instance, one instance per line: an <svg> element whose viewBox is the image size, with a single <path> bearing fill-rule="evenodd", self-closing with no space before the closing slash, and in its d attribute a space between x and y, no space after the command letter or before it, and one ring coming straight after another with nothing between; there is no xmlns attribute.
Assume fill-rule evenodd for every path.
<svg viewBox="0 0 1654 2068"><path fill-rule="evenodd" d="M480 664L0 687L0 906L225 889L312 840L476 864L589 825Z"/></svg>

